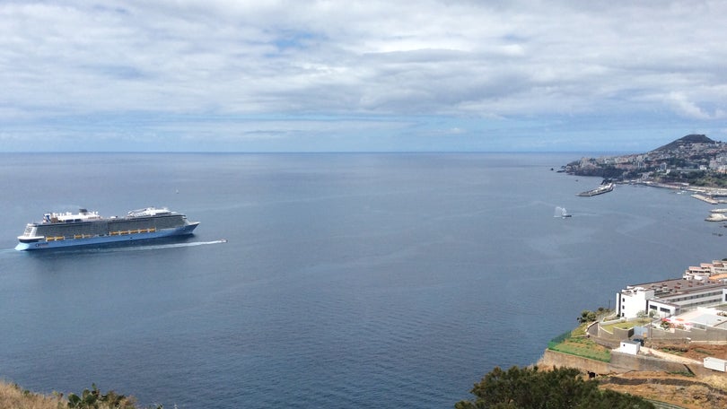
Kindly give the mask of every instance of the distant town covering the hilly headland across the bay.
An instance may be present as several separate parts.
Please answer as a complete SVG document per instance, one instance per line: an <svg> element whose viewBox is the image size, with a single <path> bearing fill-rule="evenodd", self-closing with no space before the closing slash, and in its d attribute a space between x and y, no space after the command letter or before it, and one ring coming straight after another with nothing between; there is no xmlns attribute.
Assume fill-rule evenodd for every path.
<svg viewBox="0 0 727 409"><path fill-rule="evenodd" d="M621 183L727 188L727 144L706 135L686 135L650 152L582 158L560 171Z"/></svg>

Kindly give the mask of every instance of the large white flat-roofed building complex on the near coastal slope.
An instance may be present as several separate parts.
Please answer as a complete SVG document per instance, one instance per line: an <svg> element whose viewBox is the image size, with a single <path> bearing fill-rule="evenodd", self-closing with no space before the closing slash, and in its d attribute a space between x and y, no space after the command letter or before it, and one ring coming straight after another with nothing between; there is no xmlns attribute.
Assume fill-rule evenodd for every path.
<svg viewBox="0 0 727 409"><path fill-rule="evenodd" d="M697 307L727 303L722 262L689 267L682 278L626 286L616 294L619 318L671 317Z"/></svg>

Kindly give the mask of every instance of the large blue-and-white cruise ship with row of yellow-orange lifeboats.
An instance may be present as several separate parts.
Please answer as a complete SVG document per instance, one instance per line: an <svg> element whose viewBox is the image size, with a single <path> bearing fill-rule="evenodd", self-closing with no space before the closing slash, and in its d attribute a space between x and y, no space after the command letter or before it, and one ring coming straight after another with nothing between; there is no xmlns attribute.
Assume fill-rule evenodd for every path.
<svg viewBox="0 0 727 409"><path fill-rule="evenodd" d="M167 208L146 207L124 217L105 218L98 212L46 213L42 222L28 223L16 250L66 248L192 234L199 222Z"/></svg>

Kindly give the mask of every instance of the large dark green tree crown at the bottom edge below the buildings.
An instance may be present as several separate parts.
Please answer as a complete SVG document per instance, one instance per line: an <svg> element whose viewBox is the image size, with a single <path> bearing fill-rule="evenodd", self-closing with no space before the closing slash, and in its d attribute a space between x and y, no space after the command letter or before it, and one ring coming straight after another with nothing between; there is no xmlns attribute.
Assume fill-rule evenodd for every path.
<svg viewBox="0 0 727 409"><path fill-rule="evenodd" d="M538 367L510 370L495 368L470 391L476 400L460 401L455 409L540 408L653 408L644 399L611 390L600 390L595 380L584 380L579 370Z"/></svg>

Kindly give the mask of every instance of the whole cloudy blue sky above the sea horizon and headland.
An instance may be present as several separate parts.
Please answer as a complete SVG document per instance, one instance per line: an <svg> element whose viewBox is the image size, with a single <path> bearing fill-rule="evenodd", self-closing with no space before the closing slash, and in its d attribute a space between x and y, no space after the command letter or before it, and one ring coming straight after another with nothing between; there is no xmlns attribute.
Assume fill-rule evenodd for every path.
<svg viewBox="0 0 727 409"><path fill-rule="evenodd" d="M0 152L727 140L724 1L0 1Z"/></svg>

